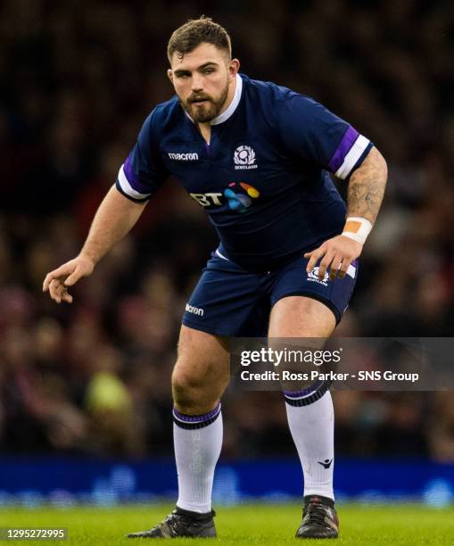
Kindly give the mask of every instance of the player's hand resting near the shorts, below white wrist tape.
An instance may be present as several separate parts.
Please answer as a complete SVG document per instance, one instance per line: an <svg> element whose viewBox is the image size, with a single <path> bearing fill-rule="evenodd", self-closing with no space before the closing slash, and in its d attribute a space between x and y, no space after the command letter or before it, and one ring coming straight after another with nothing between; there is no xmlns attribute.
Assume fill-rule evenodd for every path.
<svg viewBox="0 0 454 546"><path fill-rule="evenodd" d="M331 280L334 280L336 275L343 278L351 262L359 257L362 246L362 244L358 243L358 241L353 241L350 237L335 236L325 241L324 244L321 244L312 252L304 254L304 258L310 259L306 270L309 273L315 268L318 261L320 261L318 265L318 278L320 280L325 277L326 270L328 269Z"/></svg>

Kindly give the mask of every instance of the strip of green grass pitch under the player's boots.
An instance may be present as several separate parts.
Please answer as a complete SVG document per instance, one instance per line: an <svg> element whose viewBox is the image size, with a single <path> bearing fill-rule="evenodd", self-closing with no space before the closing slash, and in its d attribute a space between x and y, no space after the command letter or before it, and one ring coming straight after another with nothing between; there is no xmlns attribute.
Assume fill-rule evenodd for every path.
<svg viewBox="0 0 454 546"><path fill-rule="evenodd" d="M0 527L67 527L69 539L53 542L9 541L4 544L136 544L124 534L149 528L171 510L170 506L129 506L114 509L0 509ZM339 507L341 536L336 544L398 546L409 544L454 544L454 507L428 509L421 506ZM301 509L291 505L245 505L220 508L216 517L219 538L177 539L172 544L196 546L219 544L290 544L301 543L293 538L299 525ZM161 542L161 541L159 541ZM326 543L303 541L304 544ZM328 542L331 543L331 542Z"/></svg>

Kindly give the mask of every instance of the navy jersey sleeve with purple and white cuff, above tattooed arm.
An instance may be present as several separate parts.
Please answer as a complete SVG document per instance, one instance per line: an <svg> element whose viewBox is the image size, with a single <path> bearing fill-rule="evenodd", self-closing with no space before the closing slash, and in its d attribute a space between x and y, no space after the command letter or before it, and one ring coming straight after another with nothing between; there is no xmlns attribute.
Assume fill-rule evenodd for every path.
<svg viewBox="0 0 454 546"><path fill-rule="evenodd" d="M366 136L307 96L285 97L277 115L285 147L338 178L348 178L372 147Z"/></svg>

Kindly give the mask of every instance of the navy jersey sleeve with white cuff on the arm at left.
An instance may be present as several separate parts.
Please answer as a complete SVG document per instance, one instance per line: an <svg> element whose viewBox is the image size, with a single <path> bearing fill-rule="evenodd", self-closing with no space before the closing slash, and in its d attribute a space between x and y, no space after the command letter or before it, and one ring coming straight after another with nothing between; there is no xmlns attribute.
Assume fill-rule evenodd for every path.
<svg viewBox="0 0 454 546"><path fill-rule="evenodd" d="M120 193L132 201L147 201L169 177L155 135L155 112L144 120L136 145L121 165L116 181Z"/></svg>

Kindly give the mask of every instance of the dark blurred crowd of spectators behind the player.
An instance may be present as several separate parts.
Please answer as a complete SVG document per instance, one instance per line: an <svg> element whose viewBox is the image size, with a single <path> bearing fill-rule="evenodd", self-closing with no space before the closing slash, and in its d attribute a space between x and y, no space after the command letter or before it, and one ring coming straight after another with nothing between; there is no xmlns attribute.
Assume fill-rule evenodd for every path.
<svg viewBox="0 0 454 546"><path fill-rule="evenodd" d="M4 0L0 4L0 451L172 452L179 320L216 247L173 180L58 306L144 117L172 94L170 33L205 13L252 78L314 96L384 153L390 176L337 335L454 331L454 8L450 2ZM340 189L344 191L341 184ZM338 454L454 461L449 392L336 392ZM225 456L295 453L280 393L224 400Z"/></svg>

